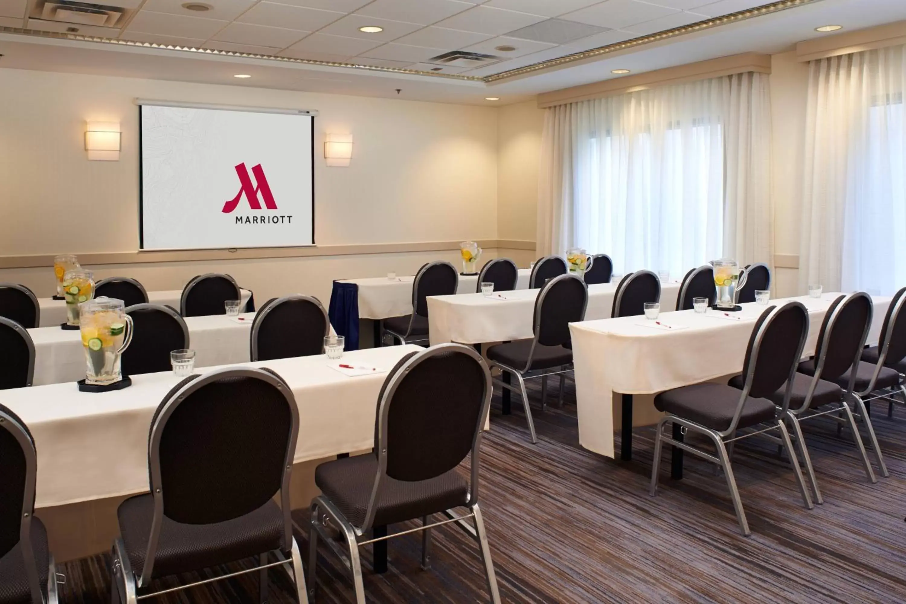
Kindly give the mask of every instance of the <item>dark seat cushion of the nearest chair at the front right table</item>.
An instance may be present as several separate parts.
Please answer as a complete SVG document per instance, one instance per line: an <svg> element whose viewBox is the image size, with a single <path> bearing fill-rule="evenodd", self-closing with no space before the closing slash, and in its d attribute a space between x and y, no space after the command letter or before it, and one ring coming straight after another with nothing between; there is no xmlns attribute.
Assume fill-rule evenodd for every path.
<svg viewBox="0 0 906 604"><path fill-rule="evenodd" d="M726 430L739 404L739 390L724 384L693 384L661 392L654 407L712 430ZM776 417L774 403L766 398L747 398L737 427L755 426Z"/></svg>

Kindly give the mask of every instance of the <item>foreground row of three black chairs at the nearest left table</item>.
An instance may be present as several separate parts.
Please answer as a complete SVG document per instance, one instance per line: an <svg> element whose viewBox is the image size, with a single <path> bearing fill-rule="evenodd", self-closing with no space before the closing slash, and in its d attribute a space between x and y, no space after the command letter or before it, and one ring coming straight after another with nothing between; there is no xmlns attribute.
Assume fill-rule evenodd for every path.
<svg viewBox="0 0 906 604"><path fill-rule="evenodd" d="M259 572L265 602L268 569L281 567L298 600L308 602L315 595L320 536L345 563L356 601L364 604L361 547L388 538L378 527L420 521L389 537L421 532L427 568L430 532L456 524L477 542L489 599L499 603L477 490L491 388L487 363L462 345L413 352L396 364L377 401L371 453L315 470L322 494L311 505L306 590L290 516L300 422L292 389L270 369L227 368L183 379L151 420L149 493L126 499L117 510L111 601L136 604L156 593ZM467 473L458 469L466 458ZM34 516L34 438L3 406L0 475L0 603L56 604L47 531ZM331 529L340 532L347 551ZM162 590L155 584L249 558L253 568L226 576Z"/></svg>

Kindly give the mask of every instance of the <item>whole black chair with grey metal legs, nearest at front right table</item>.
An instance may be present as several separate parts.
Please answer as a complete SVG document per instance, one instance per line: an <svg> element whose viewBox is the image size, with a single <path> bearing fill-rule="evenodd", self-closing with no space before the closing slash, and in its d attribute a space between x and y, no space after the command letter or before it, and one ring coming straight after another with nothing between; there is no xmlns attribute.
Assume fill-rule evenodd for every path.
<svg viewBox="0 0 906 604"><path fill-rule="evenodd" d="M796 365L802 357L806 335L808 335L808 312L801 302L787 302L780 308L771 306L758 318L748 340L741 391L724 384L705 383L674 388L654 398L654 407L666 412L667 415L660 419L654 440L654 465L651 466L652 496L657 494L658 490L661 447L665 442L678 446L723 468L730 497L736 508L739 527L743 534L748 536L751 531L730 467L727 445L748 436L761 435L786 447L805 507L808 509L814 507L784 424L791 385ZM772 396L785 382L786 393L782 404L777 407L767 397ZM717 456L690 446L682 442L682 439L676 440L665 435L663 431L665 424L671 426L679 424L687 430L708 436L717 448ZM753 431L739 434L739 431L747 428ZM779 438L769 434L773 430L780 432Z"/></svg>

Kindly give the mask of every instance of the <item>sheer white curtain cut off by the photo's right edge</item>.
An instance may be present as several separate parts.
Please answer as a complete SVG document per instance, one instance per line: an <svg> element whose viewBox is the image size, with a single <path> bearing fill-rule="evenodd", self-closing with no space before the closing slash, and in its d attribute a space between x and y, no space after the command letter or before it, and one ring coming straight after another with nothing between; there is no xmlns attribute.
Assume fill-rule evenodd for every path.
<svg viewBox="0 0 906 604"><path fill-rule="evenodd" d="M800 288L890 295L906 285L906 46L809 69Z"/></svg>

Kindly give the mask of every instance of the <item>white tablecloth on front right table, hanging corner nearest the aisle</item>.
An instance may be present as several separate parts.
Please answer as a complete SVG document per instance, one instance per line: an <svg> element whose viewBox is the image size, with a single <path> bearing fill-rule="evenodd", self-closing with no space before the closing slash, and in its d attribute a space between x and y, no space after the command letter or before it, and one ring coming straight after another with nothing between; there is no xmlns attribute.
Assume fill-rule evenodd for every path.
<svg viewBox="0 0 906 604"><path fill-rule="evenodd" d="M809 313L804 356L814 354L824 313L839 293L822 299L798 300ZM881 332L891 298L874 298L869 342ZM742 304L745 321L729 321L694 311L660 314L660 321L687 329L660 330L645 326L644 317L622 317L570 324L579 416L579 444L601 455L613 456L613 394L653 394L742 371L748 339L764 306Z"/></svg>

